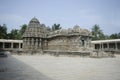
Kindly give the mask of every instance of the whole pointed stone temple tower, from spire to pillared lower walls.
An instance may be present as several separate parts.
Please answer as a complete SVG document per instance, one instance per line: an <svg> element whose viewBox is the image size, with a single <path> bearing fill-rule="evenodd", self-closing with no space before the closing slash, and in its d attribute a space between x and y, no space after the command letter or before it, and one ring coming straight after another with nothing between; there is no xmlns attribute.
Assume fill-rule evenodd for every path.
<svg viewBox="0 0 120 80"><path fill-rule="evenodd" d="M37 18L32 18L23 35L23 49L25 50L41 50L42 38L44 38L43 26Z"/></svg>

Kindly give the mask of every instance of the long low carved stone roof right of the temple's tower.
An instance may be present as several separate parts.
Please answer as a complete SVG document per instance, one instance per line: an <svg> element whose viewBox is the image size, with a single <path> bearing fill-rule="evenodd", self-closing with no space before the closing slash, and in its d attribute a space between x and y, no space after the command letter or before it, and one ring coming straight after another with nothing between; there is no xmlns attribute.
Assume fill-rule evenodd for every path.
<svg viewBox="0 0 120 80"><path fill-rule="evenodd" d="M92 37L92 34L89 30L82 29L78 25L75 25L73 28L69 28L69 29L60 29L60 30L52 31L48 34L47 37L50 38L56 36L74 36L74 35Z"/></svg>

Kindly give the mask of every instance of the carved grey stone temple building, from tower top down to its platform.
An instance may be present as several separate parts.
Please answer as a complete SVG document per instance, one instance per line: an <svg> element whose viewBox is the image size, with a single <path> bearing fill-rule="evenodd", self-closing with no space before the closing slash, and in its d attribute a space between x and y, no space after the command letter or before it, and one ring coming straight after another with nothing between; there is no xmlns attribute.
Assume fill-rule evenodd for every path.
<svg viewBox="0 0 120 80"><path fill-rule="evenodd" d="M92 34L78 25L72 29L50 31L37 18L32 18L23 35L26 51L88 51Z"/></svg>

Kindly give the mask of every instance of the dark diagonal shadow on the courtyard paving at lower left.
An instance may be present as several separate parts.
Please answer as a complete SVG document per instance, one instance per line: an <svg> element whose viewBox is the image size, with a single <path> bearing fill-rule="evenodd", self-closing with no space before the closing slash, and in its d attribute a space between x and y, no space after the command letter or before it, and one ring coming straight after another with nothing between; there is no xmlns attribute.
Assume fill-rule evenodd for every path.
<svg viewBox="0 0 120 80"><path fill-rule="evenodd" d="M53 80L9 55L0 57L0 80Z"/></svg>

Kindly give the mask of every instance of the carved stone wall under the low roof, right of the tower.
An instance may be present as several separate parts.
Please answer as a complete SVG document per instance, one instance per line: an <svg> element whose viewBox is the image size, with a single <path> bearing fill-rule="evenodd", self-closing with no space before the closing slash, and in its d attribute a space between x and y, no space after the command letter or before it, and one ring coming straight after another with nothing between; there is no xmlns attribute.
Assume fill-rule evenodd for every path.
<svg viewBox="0 0 120 80"><path fill-rule="evenodd" d="M58 51L83 51L83 48L90 47L90 41L88 37L84 38L84 44L81 41L82 36L61 36L55 37L48 41L48 50Z"/></svg>

